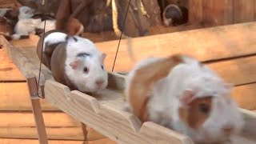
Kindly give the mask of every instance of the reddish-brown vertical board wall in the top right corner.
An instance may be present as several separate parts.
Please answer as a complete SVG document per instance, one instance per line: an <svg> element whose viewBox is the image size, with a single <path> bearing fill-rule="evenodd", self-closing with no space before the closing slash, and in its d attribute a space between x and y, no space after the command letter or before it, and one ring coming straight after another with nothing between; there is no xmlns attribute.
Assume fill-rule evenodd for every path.
<svg viewBox="0 0 256 144"><path fill-rule="evenodd" d="M256 21L256 0L191 0L190 22L222 26Z"/></svg>

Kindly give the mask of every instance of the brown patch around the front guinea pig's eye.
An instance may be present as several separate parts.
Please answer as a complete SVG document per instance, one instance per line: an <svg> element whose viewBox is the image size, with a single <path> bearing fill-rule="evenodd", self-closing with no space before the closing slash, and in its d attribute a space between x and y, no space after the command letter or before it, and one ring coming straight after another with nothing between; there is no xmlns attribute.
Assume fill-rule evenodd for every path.
<svg viewBox="0 0 256 144"><path fill-rule="evenodd" d="M197 129L210 116L212 97L196 98L187 108L179 108L179 116L188 126Z"/></svg>

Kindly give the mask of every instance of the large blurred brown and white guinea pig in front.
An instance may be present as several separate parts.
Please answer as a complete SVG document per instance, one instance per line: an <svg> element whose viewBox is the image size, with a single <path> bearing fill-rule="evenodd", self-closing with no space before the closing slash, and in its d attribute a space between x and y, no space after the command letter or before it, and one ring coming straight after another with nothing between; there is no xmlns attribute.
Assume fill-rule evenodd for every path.
<svg viewBox="0 0 256 144"><path fill-rule="evenodd" d="M189 56L146 58L126 79L126 110L197 143L229 142L244 126L231 87Z"/></svg>

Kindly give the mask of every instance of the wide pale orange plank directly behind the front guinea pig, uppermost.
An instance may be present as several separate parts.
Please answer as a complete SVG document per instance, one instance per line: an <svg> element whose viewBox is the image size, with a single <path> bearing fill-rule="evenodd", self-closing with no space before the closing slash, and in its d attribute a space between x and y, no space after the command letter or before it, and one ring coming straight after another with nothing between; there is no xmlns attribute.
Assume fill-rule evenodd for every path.
<svg viewBox="0 0 256 144"><path fill-rule="evenodd" d="M256 35L256 22L132 38L135 62L130 58L126 39L122 39L114 71L129 71L136 62L150 56L181 53L208 61L255 54L256 37L252 35ZM112 70L118 41L100 42L96 46L107 54L106 69Z"/></svg>

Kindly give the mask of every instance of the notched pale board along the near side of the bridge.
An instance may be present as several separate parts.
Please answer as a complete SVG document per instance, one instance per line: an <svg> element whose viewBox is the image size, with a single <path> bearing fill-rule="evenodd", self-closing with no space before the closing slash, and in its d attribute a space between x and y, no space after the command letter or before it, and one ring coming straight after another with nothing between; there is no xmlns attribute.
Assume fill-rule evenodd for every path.
<svg viewBox="0 0 256 144"><path fill-rule="evenodd" d="M133 114L126 113L122 110L116 110L115 107L108 106L108 104L102 105L97 102L97 99L90 97L90 95L83 94L76 90L70 91L67 86L64 86L58 82L50 80L46 81L45 92L47 102L50 102L52 105L57 106L60 110L63 110L67 114L70 114L78 121L83 122L87 126L94 128L94 130L98 130L98 132L108 136L116 142L122 142L126 138L122 137L122 135L117 134L116 130L109 130L110 128L108 128L108 126L98 127L97 125L90 123L90 119L114 118L118 121L118 123L122 122L122 126L126 126L126 131L129 131L129 134L133 134L133 137L137 137L138 139L142 139L145 137L150 138L149 132L151 131L151 134L154 134L154 138L162 139L163 142L177 142L181 144L193 143L192 140L190 140L190 138L188 138L186 135L178 134L173 130L166 129L163 126L159 126L154 122L143 123L142 127L139 128L139 130L134 130L134 128L138 128L138 126L140 126L141 124L138 123L138 119L134 119L135 117L132 117ZM75 109L78 109L79 111L81 111L81 113L79 113L79 111ZM114 122L110 122L106 125L117 126L117 124ZM155 131L157 131L157 133ZM152 139L152 141L154 141L154 139Z"/></svg>

